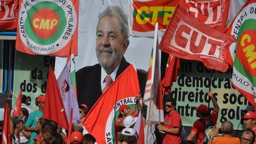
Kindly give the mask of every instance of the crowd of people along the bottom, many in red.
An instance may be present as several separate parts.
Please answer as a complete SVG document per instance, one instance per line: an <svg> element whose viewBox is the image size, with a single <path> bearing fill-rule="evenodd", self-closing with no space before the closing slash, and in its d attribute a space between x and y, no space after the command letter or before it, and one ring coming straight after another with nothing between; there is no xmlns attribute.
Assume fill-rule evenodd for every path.
<svg viewBox="0 0 256 144"><path fill-rule="evenodd" d="M194 140L198 144L255 143L256 113L254 111L248 111L242 117L246 129L241 137L233 137L233 124L231 121L223 121L220 127L216 126L219 106L211 91L208 92L208 95L212 99L214 110L209 114L209 108L203 104L194 108L197 111L196 116L199 119L194 121L187 139L182 139L181 136L183 127L181 116L176 111L176 101L173 98L168 98L164 105L166 113L164 123L159 123L156 126L155 132L151 134L151 136L153 135L153 139L149 140L148 143L194 143ZM59 127L55 121L42 119L44 98L44 95L37 97L36 104L38 110L28 112L27 108L25 108L28 107L26 105L26 97L22 95L21 116L12 116L12 111L10 114L12 143L97 143L97 139L87 133L87 130L85 130L85 127L81 123L72 124L71 136L68 140L68 131ZM137 143L138 137L133 126L137 120L136 111L143 111L142 105L140 104L140 95L137 96L137 103L137 105L131 108L126 104L119 107L120 114L118 119L114 121L114 139L116 142ZM79 105L79 112L81 120L83 120L88 113L87 105ZM0 130L2 130L2 122L0 124ZM147 123L144 117L143 124L146 130ZM212 132L206 133L207 127ZM2 135L2 132L0 134ZM160 140L159 137L156 138L157 136L160 137Z"/></svg>

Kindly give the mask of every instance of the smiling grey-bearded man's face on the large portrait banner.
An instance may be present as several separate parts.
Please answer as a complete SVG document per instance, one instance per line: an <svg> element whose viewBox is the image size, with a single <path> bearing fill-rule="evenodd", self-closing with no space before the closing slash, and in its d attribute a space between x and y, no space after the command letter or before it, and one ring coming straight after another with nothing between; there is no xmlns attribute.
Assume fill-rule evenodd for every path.
<svg viewBox="0 0 256 144"><path fill-rule="evenodd" d="M121 62L129 45L129 40L123 40L119 20L110 16L101 18L96 35L98 62L107 73L111 73Z"/></svg>

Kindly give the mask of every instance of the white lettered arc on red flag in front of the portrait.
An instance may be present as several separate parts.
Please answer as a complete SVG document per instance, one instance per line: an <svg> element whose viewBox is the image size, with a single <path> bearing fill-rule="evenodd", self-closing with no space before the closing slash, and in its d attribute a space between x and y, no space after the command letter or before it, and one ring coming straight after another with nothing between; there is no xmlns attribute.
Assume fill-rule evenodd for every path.
<svg viewBox="0 0 256 144"><path fill-rule="evenodd" d="M105 125L105 142L106 143L117 143L114 142L114 121L118 119L119 107L123 104L129 105L132 108L136 104L136 97L123 98L113 106L111 113L108 115L107 123Z"/></svg>

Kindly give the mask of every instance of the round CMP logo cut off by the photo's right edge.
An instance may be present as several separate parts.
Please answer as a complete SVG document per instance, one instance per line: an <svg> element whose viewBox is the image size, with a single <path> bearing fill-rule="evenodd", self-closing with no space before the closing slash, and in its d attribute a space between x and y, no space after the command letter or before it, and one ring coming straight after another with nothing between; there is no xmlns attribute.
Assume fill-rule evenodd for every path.
<svg viewBox="0 0 256 144"><path fill-rule="evenodd" d="M251 76L256 76L256 3L248 5L238 16L236 27L239 27L239 33L235 33L236 27L233 28L233 36L238 37L234 66L243 75L250 75L248 78L251 79Z"/></svg>

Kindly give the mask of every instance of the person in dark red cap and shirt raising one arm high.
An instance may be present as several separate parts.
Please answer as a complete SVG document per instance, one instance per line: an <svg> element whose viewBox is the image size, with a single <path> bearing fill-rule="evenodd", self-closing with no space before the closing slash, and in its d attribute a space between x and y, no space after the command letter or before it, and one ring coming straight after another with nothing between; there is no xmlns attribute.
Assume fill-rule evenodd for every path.
<svg viewBox="0 0 256 144"><path fill-rule="evenodd" d="M194 137L197 137L197 143L202 143L204 141L205 124L212 123L213 125L215 125L217 122L219 105L213 97L213 93L211 90L208 92L208 95L212 100L213 107L215 109L213 110L213 113L209 116L209 109L206 105L200 104L199 107L194 108L194 110L197 111L196 116L200 119L194 122L193 127L191 128L190 135L188 135L187 137L187 140L193 140Z"/></svg>

